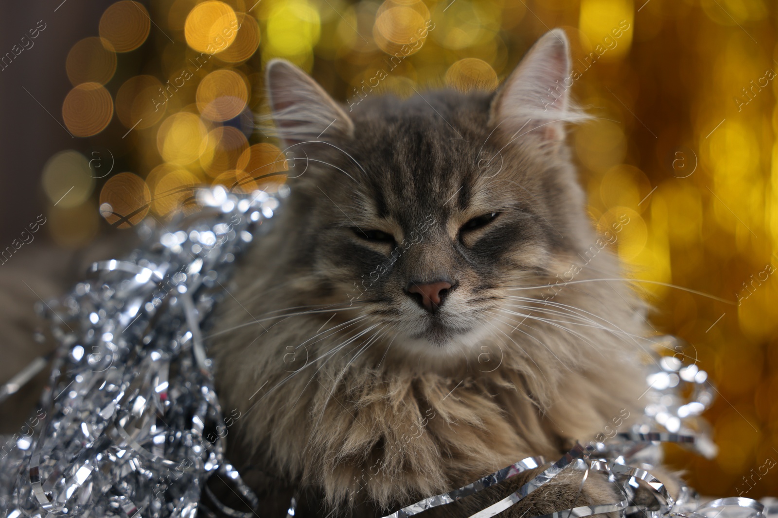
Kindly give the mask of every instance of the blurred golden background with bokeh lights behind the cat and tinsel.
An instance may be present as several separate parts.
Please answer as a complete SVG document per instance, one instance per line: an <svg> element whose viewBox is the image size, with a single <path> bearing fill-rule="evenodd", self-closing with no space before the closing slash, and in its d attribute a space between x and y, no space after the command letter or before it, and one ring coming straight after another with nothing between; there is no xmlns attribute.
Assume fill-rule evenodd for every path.
<svg viewBox="0 0 778 518"><path fill-rule="evenodd" d="M615 248L647 281L651 324L689 342L682 353L718 387L706 417L719 456L669 448L671 462L706 495L778 495L773 2L46 0L2 11L2 266L26 262L33 240L64 257L129 236L117 228L163 221L201 183L277 188L282 175L254 178L283 170L254 118L273 57L351 104L365 85L494 88L563 27L573 97L597 117L570 134L591 218L605 229L629 215Z"/></svg>

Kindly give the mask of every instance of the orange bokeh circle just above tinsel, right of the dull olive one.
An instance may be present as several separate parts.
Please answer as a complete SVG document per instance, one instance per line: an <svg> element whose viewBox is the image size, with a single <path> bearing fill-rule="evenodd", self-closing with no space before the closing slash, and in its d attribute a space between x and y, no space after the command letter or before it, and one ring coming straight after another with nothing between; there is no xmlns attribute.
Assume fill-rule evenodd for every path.
<svg viewBox="0 0 778 518"><path fill-rule="evenodd" d="M151 191L131 172L111 176L100 191L100 215L117 228L138 224L149 212Z"/></svg>

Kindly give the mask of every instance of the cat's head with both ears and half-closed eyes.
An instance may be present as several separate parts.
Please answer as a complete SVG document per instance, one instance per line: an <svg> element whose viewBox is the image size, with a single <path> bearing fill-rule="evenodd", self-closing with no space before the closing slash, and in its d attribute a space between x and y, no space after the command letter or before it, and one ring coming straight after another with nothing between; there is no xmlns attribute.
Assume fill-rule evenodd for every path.
<svg viewBox="0 0 778 518"><path fill-rule="evenodd" d="M517 321L510 289L559 279L594 237L564 143L582 117L570 85L562 30L496 92L363 88L352 110L292 64L268 64L306 302L429 351Z"/></svg>

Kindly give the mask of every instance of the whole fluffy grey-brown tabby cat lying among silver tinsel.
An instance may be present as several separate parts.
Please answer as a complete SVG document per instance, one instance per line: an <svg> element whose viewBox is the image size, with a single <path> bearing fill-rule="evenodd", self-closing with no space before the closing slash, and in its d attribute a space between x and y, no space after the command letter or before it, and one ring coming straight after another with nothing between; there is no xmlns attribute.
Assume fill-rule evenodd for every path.
<svg viewBox="0 0 778 518"><path fill-rule="evenodd" d="M569 68L552 30L496 92L371 92L347 111L268 63L291 194L209 331L240 415L230 458L262 516L292 495L296 516L382 516L642 413L647 307L595 245L565 142L587 118ZM620 499L594 475L579 488L560 477L500 516Z"/></svg>

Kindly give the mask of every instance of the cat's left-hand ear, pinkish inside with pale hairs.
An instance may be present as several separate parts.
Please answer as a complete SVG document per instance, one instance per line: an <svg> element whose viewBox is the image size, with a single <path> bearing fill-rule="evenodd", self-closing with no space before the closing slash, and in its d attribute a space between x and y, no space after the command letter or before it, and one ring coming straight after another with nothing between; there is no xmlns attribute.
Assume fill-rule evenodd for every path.
<svg viewBox="0 0 778 518"><path fill-rule="evenodd" d="M268 62L265 85L279 137L289 148L354 136L354 123L310 75L282 59Z"/></svg>

